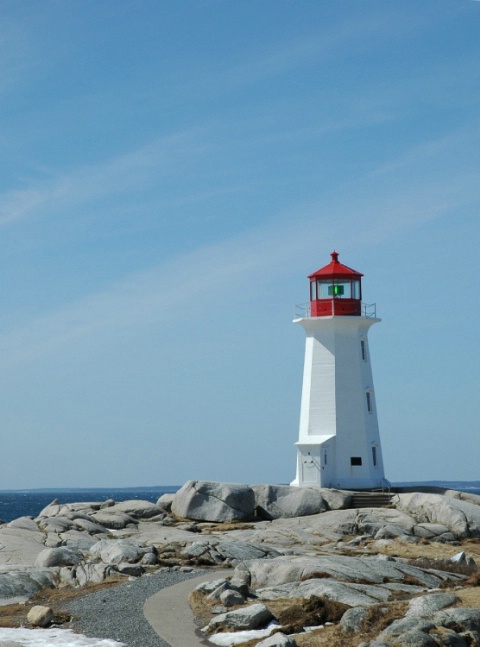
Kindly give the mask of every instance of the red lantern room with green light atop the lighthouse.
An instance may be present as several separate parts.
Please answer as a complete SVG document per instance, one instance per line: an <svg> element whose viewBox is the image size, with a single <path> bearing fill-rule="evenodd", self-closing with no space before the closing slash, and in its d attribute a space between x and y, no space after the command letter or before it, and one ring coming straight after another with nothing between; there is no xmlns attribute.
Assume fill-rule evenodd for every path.
<svg viewBox="0 0 480 647"><path fill-rule="evenodd" d="M360 317L362 314L362 276L342 265L338 252L325 267L309 275L310 315L312 317Z"/></svg>

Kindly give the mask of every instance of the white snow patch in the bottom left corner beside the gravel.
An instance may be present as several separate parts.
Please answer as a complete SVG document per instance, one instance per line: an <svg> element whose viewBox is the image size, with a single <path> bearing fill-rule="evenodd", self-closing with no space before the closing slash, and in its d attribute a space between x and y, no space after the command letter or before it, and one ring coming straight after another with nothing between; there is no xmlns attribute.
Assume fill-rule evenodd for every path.
<svg viewBox="0 0 480 647"><path fill-rule="evenodd" d="M0 643L11 640L22 647L126 647L108 638L87 638L71 629L4 629L0 627Z"/></svg>

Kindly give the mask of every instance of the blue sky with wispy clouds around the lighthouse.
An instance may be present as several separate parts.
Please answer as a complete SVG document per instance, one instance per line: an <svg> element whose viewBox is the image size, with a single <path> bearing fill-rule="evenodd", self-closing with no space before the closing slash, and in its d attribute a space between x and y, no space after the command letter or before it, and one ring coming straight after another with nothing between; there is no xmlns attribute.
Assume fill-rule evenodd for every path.
<svg viewBox="0 0 480 647"><path fill-rule="evenodd" d="M0 0L0 489L295 477L307 275L385 474L480 479L480 2Z"/></svg>

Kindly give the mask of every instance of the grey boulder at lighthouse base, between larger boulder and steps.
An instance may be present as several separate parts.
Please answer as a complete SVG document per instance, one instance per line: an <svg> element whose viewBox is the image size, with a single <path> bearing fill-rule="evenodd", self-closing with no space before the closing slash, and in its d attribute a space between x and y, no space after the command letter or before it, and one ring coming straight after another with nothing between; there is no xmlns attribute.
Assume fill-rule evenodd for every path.
<svg viewBox="0 0 480 647"><path fill-rule="evenodd" d="M255 509L261 519L304 517L328 510L320 491L288 485L252 485Z"/></svg>

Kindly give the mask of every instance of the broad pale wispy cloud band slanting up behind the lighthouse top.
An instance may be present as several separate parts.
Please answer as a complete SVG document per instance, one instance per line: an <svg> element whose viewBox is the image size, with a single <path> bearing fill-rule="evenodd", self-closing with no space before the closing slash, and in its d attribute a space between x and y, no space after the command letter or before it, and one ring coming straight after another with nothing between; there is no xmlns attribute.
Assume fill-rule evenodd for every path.
<svg viewBox="0 0 480 647"><path fill-rule="evenodd" d="M402 187L396 195L366 197L350 191L341 198L297 205L290 217L282 215L286 224L281 227L263 226L182 254L5 332L0 336L2 370L56 357L69 348L101 347L107 339L122 343L125 336L138 337L152 325L175 325L185 317L187 294L197 319L209 318L212 304L221 308L232 293L254 301L269 285L287 278L300 258L311 259L306 264L316 262L320 240L312 231L322 232L322 249L341 241L343 250L355 248L358 253L454 211L461 200L456 184L439 188L432 183L408 194Z"/></svg>

